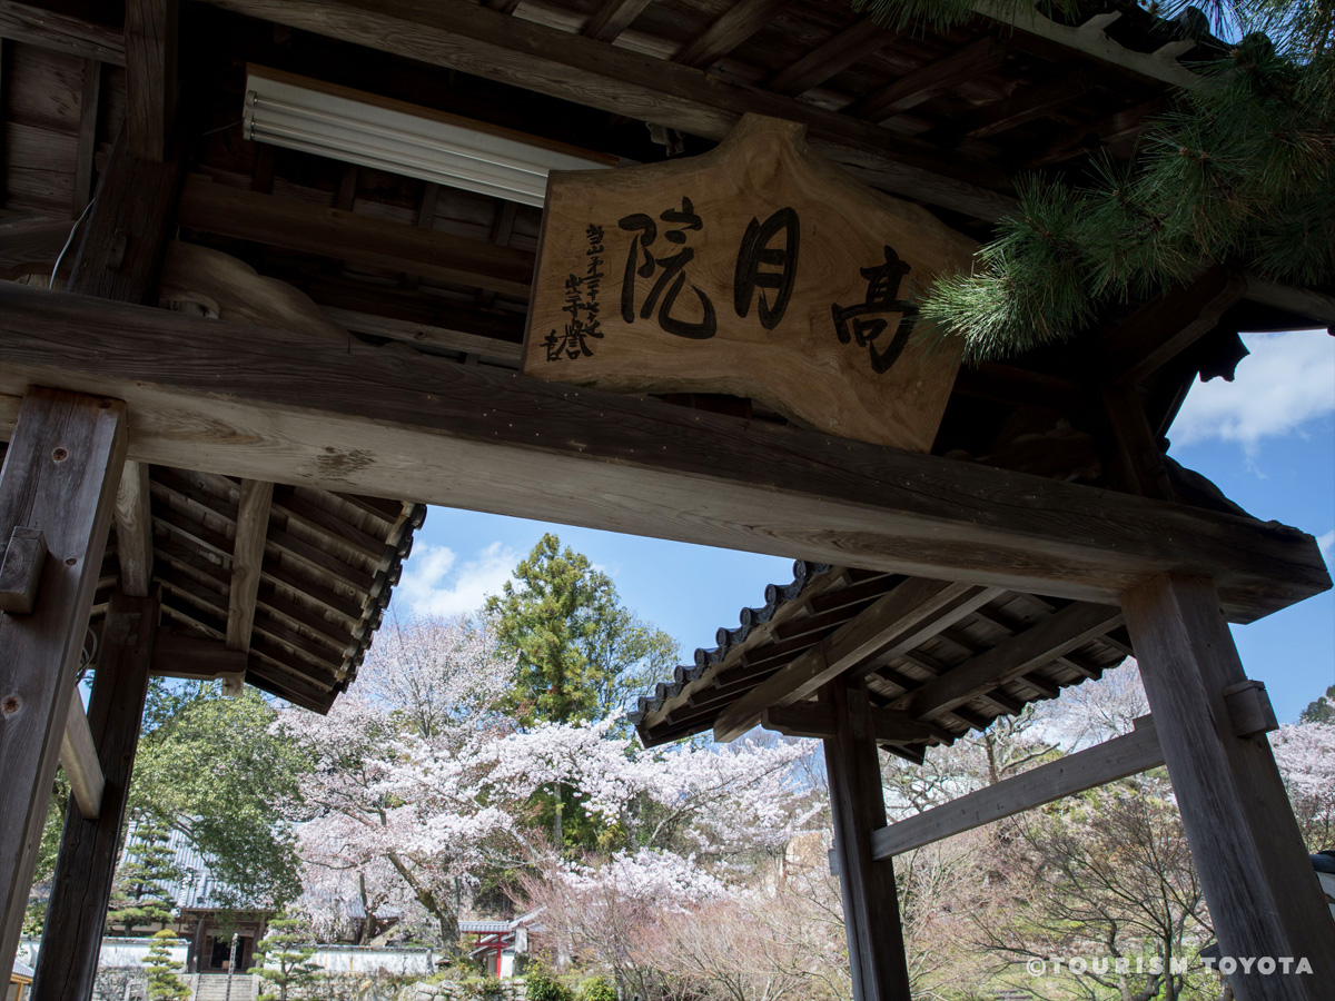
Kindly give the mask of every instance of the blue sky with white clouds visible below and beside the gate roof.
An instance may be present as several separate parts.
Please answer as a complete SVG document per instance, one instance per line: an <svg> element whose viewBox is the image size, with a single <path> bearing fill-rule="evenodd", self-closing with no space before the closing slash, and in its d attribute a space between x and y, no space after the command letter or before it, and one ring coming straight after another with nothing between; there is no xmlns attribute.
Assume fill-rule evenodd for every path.
<svg viewBox="0 0 1335 1001"><path fill-rule="evenodd" d="M1335 549L1335 338L1318 331L1250 335L1252 354L1232 383L1196 383L1173 424L1169 454L1263 519ZM466 614L497 593L543 531L586 554L622 601L673 635L689 659L760 605L792 561L431 509L394 595L398 614ZM1250 626L1235 626L1248 677L1266 682L1275 711L1294 719L1335 685L1335 595L1326 593Z"/></svg>

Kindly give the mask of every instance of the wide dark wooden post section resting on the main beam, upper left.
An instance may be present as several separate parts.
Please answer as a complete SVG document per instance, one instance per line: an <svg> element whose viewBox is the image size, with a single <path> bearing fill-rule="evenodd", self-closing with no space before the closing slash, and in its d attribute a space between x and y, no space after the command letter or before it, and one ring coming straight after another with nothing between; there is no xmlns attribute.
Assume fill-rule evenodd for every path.
<svg viewBox="0 0 1335 1001"><path fill-rule="evenodd" d="M180 160L129 155L121 129L83 226L69 291L158 304L158 275L171 236Z"/></svg>

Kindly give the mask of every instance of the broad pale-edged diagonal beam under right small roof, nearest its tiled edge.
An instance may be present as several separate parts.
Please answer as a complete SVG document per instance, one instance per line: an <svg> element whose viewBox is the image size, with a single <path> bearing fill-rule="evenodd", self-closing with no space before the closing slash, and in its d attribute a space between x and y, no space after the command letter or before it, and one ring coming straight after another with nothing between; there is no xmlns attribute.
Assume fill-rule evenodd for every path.
<svg viewBox="0 0 1335 1001"><path fill-rule="evenodd" d="M762 681L714 722L714 739L741 737L762 710L788 706L872 657L909 650L1000 594L989 587L909 578L856 619Z"/></svg>

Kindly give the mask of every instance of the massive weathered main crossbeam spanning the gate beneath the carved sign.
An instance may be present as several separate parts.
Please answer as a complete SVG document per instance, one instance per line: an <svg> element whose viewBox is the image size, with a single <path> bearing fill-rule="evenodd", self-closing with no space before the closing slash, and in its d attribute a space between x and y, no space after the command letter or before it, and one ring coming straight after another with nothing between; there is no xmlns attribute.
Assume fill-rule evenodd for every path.
<svg viewBox="0 0 1335 1001"><path fill-rule="evenodd" d="M409 348L0 286L0 395L115 392L132 456L885 573L1108 602L1212 567L1251 621L1330 587L1310 535Z"/></svg>

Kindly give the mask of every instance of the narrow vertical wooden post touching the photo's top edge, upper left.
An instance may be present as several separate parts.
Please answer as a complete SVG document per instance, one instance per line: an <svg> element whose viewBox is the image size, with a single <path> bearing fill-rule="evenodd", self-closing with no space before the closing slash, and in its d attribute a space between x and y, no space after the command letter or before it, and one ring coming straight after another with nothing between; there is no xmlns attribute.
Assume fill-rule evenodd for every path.
<svg viewBox="0 0 1335 1001"><path fill-rule="evenodd" d="M125 133L129 155L162 163L176 120L178 0L125 0Z"/></svg>

